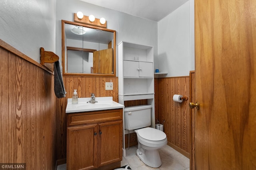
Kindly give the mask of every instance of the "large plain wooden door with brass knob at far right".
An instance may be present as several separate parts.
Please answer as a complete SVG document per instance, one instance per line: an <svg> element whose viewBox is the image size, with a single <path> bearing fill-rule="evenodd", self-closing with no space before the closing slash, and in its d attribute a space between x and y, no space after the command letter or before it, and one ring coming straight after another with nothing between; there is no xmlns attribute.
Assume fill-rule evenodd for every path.
<svg viewBox="0 0 256 170"><path fill-rule="evenodd" d="M195 169L255 170L256 0L195 0L195 57Z"/></svg>

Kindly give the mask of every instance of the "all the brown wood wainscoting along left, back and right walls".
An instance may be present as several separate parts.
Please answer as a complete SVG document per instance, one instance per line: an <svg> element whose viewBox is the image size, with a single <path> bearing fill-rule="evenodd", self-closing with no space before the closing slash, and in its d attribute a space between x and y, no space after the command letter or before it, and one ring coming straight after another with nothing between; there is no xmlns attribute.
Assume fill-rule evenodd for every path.
<svg viewBox="0 0 256 170"><path fill-rule="evenodd" d="M64 76L67 94L57 99L52 73L2 40L0 47L0 162L54 169L56 158L66 158L67 98L78 89L79 97L95 93L118 102L118 77ZM105 83L110 80L114 90L106 91ZM161 123L165 120L168 144L189 155L189 101L174 103L174 94L189 97L189 77L155 79L155 117ZM146 101L131 101L126 106L138 104Z"/></svg>

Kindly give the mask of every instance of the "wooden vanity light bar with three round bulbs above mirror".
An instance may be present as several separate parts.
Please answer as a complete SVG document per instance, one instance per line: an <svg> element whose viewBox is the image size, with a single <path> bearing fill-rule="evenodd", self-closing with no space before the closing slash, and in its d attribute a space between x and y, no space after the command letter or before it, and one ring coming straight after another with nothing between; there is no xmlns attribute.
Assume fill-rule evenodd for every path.
<svg viewBox="0 0 256 170"><path fill-rule="evenodd" d="M79 22L79 23L88 24L88 25L91 25L91 26L98 26L98 27L102 27L102 28L107 28L107 22L106 22L105 18L98 19L98 18L95 18L93 15L90 15L90 16L82 15L83 17L79 16L79 15L74 13L74 22Z"/></svg>

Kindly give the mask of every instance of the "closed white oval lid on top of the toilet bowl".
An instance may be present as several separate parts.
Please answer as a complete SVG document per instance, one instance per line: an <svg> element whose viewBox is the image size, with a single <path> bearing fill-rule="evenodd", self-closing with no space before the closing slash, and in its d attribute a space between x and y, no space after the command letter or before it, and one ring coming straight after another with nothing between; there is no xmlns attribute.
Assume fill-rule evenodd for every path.
<svg viewBox="0 0 256 170"><path fill-rule="evenodd" d="M140 135L140 137L151 141L160 141L166 138L166 134L164 132L150 127L139 129L137 134Z"/></svg>

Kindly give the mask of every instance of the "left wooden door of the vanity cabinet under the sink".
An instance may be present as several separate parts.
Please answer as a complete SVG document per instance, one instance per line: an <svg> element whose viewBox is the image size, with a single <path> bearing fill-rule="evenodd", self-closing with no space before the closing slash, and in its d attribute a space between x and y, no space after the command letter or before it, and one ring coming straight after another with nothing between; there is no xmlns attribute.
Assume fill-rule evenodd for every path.
<svg viewBox="0 0 256 170"><path fill-rule="evenodd" d="M67 170L97 168L97 132L97 124L67 128Z"/></svg>

